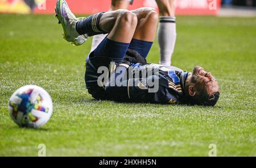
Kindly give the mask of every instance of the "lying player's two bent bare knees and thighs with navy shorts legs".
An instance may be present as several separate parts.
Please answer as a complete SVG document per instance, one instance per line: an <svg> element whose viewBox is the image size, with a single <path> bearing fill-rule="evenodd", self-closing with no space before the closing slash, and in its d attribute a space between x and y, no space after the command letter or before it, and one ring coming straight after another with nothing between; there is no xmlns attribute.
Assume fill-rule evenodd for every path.
<svg viewBox="0 0 256 168"><path fill-rule="evenodd" d="M112 24L109 22L113 18L116 21L112 28ZM101 18L101 28L104 31L112 31L108 38L105 38L95 49L94 56L104 55L122 60L127 51L125 47L128 44L129 48L146 58L152 41L155 39L157 23L158 14L155 9L147 7L133 11L117 10L105 13Z"/></svg>

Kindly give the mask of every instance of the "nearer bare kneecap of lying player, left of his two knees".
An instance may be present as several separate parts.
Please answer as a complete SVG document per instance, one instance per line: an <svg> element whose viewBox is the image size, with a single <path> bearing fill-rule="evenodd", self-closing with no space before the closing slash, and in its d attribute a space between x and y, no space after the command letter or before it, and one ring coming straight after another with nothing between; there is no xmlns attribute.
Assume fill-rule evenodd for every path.
<svg viewBox="0 0 256 168"><path fill-rule="evenodd" d="M122 10L120 23L125 26L137 26L137 16L129 10Z"/></svg>

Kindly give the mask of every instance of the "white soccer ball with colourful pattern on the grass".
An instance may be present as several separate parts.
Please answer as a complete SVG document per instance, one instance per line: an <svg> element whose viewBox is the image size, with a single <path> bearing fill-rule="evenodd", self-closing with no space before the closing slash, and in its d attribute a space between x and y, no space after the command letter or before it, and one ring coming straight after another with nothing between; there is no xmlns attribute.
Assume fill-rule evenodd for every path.
<svg viewBox="0 0 256 168"><path fill-rule="evenodd" d="M20 127L42 127L52 115L51 96L35 85L20 87L11 95L8 105L11 119Z"/></svg>

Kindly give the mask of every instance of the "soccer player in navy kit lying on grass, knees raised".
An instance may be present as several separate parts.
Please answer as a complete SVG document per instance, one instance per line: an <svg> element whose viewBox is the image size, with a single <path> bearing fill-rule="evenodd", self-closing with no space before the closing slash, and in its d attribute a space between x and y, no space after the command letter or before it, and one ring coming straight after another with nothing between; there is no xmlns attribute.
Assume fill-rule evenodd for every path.
<svg viewBox="0 0 256 168"><path fill-rule="evenodd" d="M218 83L200 66L187 73L174 66L147 64L145 58L155 39L158 23L154 9L115 10L77 19L67 3L59 0L55 11L63 26L65 40L73 44L86 40L88 36L108 33L90 53L86 64L86 88L93 98L204 106L217 103L220 95ZM108 70L107 75L102 75L104 68ZM153 69L153 72L143 75L146 69ZM127 75L130 72L132 75ZM110 78L105 78L109 75ZM152 86L152 81L158 81L157 86Z"/></svg>

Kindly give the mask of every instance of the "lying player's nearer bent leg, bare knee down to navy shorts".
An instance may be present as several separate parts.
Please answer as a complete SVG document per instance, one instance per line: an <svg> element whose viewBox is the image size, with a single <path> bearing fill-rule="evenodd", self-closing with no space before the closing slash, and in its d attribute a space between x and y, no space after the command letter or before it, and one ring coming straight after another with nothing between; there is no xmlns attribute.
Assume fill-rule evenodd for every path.
<svg viewBox="0 0 256 168"><path fill-rule="evenodd" d="M108 66L110 64L109 60L121 63L134 35L136 26L137 16L128 10L104 13L100 19L99 27L102 31L109 32L109 35L101 41L93 54L90 54L89 60L93 64L97 64L96 68ZM98 58L101 59L99 60Z"/></svg>

